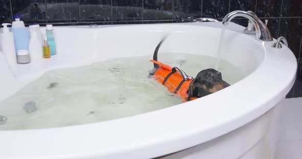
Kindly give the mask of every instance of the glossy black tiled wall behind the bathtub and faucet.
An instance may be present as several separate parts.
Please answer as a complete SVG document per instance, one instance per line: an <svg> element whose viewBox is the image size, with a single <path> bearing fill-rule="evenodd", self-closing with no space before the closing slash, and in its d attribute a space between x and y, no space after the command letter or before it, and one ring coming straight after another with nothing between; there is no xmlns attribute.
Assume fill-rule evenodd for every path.
<svg viewBox="0 0 302 159"><path fill-rule="evenodd" d="M297 58L294 87L287 97L302 97L301 0L0 0L0 23L23 14L26 24L141 24L187 22L199 17L221 20L234 10L250 10L268 20L274 38L284 36ZM247 25L244 18L233 22Z"/></svg>

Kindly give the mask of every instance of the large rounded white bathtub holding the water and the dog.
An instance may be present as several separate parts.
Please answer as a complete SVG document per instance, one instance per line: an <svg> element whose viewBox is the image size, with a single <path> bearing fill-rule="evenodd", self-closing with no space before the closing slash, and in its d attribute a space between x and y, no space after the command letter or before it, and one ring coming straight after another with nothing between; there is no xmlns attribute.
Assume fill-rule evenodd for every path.
<svg viewBox="0 0 302 159"><path fill-rule="evenodd" d="M51 59L9 69L0 54L0 101L51 69L152 56L167 33L169 40L160 52L216 57L220 24L57 27L57 56ZM3 130L0 158L274 158L280 112L276 106L294 83L296 59L284 45L272 48L273 42L243 34L240 25L230 23L227 29L222 58L248 74L243 80L203 98L132 117Z"/></svg>

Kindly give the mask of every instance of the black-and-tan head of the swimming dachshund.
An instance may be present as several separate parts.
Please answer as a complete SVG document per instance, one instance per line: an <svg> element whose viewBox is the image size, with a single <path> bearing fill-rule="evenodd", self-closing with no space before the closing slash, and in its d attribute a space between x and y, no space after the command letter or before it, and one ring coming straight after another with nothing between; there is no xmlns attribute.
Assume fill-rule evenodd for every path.
<svg viewBox="0 0 302 159"><path fill-rule="evenodd" d="M221 73L215 69L209 68L200 71L196 78L190 83L188 99L191 97L200 98L208 94L217 92L230 86L222 80Z"/></svg>

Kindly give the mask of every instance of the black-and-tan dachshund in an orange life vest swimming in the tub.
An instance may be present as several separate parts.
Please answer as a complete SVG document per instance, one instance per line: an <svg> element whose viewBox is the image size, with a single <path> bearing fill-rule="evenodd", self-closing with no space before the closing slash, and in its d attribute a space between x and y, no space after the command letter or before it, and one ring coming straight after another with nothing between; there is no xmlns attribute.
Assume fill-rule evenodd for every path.
<svg viewBox="0 0 302 159"><path fill-rule="evenodd" d="M170 92L178 94L184 101L189 101L230 86L222 80L221 72L215 69L202 70L196 78L192 78L178 67L171 67L158 62L158 50L164 40L165 38L157 45L153 60L150 60L154 63L154 68L149 71L149 74L166 86Z"/></svg>

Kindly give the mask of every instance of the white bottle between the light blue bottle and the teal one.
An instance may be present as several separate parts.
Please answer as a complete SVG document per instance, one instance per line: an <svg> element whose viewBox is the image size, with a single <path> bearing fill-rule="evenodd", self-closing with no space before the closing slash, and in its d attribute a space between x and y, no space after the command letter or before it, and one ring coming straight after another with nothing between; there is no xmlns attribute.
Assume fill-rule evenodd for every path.
<svg viewBox="0 0 302 159"><path fill-rule="evenodd" d="M30 34L28 51L31 61L36 61L43 58L43 48L41 46L40 40L38 39L35 29L33 29Z"/></svg>

